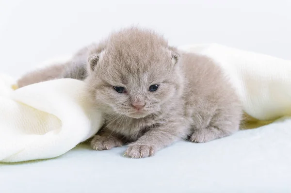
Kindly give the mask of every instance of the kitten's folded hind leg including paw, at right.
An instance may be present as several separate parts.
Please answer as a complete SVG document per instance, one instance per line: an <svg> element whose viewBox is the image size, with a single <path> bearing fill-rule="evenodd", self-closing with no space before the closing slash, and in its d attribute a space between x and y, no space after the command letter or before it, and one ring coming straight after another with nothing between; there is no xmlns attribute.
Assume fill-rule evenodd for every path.
<svg viewBox="0 0 291 193"><path fill-rule="evenodd" d="M239 106L224 107L205 117L196 115L190 141L204 143L226 137L239 130L241 117L242 111Z"/></svg>

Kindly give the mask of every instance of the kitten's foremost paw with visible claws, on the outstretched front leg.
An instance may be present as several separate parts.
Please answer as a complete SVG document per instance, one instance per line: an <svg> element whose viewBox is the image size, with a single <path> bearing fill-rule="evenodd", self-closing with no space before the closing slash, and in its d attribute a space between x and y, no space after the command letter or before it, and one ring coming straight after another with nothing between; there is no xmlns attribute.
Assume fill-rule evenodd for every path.
<svg viewBox="0 0 291 193"><path fill-rule="evenodd" d="M124 155L130 158L146 158L153 156L156 148L153 145L130 144Z"/></svg>

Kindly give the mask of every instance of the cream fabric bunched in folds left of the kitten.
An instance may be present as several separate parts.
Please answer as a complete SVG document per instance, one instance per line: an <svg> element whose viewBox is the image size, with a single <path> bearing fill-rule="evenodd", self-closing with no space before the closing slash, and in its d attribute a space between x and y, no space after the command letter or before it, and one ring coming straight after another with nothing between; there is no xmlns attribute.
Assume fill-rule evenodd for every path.
<svg viewBox="0 0 291 193"><path fill-rule="evenodd" d="M0 162L60 156L102 124L80 80L52 80L16 91L13 83L0 75Z"/></svg>

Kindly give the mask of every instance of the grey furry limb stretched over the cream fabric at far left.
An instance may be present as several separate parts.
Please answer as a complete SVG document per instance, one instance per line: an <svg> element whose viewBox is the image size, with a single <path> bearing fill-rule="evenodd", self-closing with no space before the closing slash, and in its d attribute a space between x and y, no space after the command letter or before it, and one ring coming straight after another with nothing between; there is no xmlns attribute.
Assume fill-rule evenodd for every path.
<svg viewBox="0 0 291 193"><path fill-rule="evenodd" d="M65 66L66 64L55 64L36 69L18 79L17 86L18 88L21 88L30 84L61 78Z"/></svg>

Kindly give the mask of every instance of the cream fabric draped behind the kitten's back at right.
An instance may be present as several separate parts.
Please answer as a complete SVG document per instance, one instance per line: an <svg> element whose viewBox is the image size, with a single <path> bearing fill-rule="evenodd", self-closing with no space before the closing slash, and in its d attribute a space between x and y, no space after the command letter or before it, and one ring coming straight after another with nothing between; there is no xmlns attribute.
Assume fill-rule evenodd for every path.
<svg viewBox="0 0 291 193"><path fill-rule="evenodd" d="M249 116L269 121L291 115L291 61L218 44L180 49L206 55L220 65Z"/></svg>

